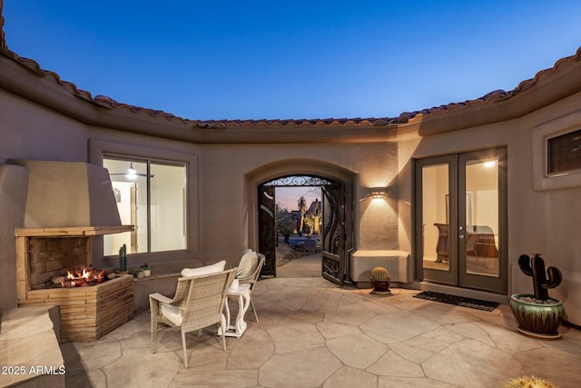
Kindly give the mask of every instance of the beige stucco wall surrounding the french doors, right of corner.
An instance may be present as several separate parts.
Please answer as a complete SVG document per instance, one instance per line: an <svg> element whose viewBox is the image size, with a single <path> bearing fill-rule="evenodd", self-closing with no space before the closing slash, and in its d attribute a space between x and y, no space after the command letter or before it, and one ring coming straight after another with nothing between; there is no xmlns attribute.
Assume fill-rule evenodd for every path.
<svg viewBox="0 0 581 388"><path fill-rule="evenodd" d="M581 94L553 104L534 114L499 124L431 135L420 141L399 144L399 160L423 158L441 154L465 153L506 146L507 208L508 208L508 290L509 293L532 293L532 280L517 266L520 254L542 254L547 266L556 266L564 282L549 294L564 300L567 319L581 324L581 174L576 175L577 187L535 191L533 144L542 138L533 136L533 129L558 117L574 114L581 105ZM581 127L581 122L577 123ZM561 128L555 127L558 131ZM411 202L410 166L403 168L400 183L409 189L400 191L400 246L411 236L411 214L405 214L403 204ZM405 182L401 182L405 181ZM409 218L408 218L409 217ZM409 241L411 244L411 241ZM403 249L403 248L402 248Z"/></svg>

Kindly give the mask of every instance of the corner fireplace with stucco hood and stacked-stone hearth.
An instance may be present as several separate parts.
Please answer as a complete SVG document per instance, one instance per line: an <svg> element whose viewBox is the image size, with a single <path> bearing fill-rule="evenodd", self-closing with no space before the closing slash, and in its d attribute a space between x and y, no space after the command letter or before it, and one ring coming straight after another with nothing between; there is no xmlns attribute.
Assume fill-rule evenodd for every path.
<svg viewBox="0 0 581 388"><path fill-rule="evenodd" d="M95 236L133 231L121 224L107 170L81 162L9 163L28 174L24 224L15 230L18 304L59 306L64 342L97 340L132 319L131 275L68 288L52 281L92 266Z"/></svg>

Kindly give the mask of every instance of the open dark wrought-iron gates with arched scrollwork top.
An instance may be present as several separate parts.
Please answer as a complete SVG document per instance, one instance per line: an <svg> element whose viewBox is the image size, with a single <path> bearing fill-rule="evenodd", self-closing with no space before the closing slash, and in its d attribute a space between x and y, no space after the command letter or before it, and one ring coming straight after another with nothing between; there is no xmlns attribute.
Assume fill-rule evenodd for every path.
<svg viewBox="0 0 581 388"><path fill-rule="evenodd" d="M346 184L320 175L285 175L261 183L258 186L258 228L259 251L266 256L262 274L276 276L276 245L281 229L277 225L276 188L279 187L319 187L321 192L320 219L322 231L318 238L321 250L320 274L332 283L342 285L349 280L348 254L352 238L347 224ZM302 213L302 212L301 212ZM319 213L317 213L319 215ZM303 215L300 214L299 234L303 229ZM280 223L280 221L278 221ZM319 220L315 221L318 223ZM318 225L315 224L315 228ZM296 227L295 227L296 228ZM312 241L311 241L312 242Z"/></svg>

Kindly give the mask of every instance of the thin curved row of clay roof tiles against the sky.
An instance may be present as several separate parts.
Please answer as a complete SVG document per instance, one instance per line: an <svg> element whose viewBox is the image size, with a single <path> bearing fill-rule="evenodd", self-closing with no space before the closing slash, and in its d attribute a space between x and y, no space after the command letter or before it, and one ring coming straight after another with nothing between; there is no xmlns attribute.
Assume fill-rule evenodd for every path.
<svg viewBox="0 0 581 388"><path fill-rule="evenodd" d="M0 30L1 32L1 30ZM273 127L273 126L295 126L295 127L302 127L302 126L384 126L384 125L396 125L396 124L405 124L409 123L410 121L419 118L420 116L428 117L432 114L436 113L447 113L451 111L456 111L458 109L466 109L470 106L477 105L477 104L489 104L495 103L498 101L507 100L509 98L514 97L515 95L519 95L520 93L526 91L527 89L537 85L541 82L544 78L555 74L561 67L566 67L573 62L577 62L581 60L581 47L577 49L575 55L567 56L565 58L559 59L556 61L556 64L546 70L539 71L534 78L522 81L515 89L511 91L504 91L504 90L496 90L493 92L488 93L487 95L483 95L482 97L467 100L460 103L450 103L450 104L443 104L427 109L422 109L419 111L413 112L403 112L399 114L398 117L367 117L367 118L313 118L313 119L258 119L258 120L231 120L231 119L224 119L224 120L192 120L186 119L175 114L163 112L161 110L143 108L140 106L135 106L131 104L123 104L113 100L110 97L104 95L96 95L93 97L89 92L80 90L74 85L72 82L63 81L54 72L47 71L41 68L41 66L32 59L23 58L19 55L16 55L14 52L8 50L6 47L0 47L0 53L12 58L16 63L25 66L28 70L33 71L37 75L41 75L47 79L54 79L54 81L62 85L65 88L68 88L71 93L74 95L93 103L97 106L101 106L107 109L115 109L115 110L126 110L133 114L149 114L152 117L162 117L169 121L181 121L184 124L193 124L197 127L202 129L225 129L230 127Z"/></svg>

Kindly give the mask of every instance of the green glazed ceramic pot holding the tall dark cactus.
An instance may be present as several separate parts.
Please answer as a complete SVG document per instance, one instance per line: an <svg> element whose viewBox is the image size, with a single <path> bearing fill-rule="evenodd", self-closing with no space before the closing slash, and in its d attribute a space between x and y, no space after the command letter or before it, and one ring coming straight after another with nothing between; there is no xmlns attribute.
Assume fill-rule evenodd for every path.
<svg viewBox="0 0 581 388"><path fill-rule="evenodd" d="M563 320L563 302L551 298L555 303L530 303L520 300L535 298L529 293L515 293L510 296L510 309L518 322L518 332L540 339L561 338L558 328Z"/></svg>

